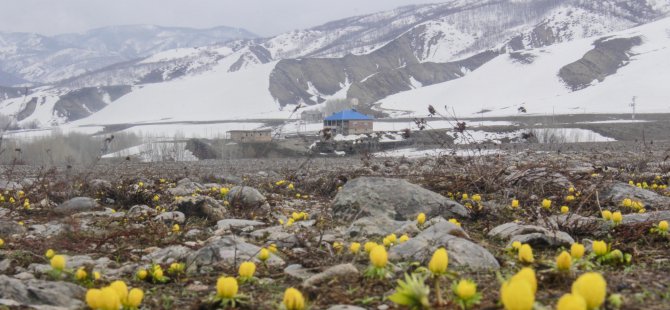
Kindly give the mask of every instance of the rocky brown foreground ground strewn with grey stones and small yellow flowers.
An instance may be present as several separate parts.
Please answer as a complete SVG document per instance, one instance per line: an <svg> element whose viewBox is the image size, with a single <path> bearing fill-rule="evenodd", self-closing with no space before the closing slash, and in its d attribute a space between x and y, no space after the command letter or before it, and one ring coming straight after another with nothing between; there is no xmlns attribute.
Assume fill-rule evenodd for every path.
<svg viewBox="0 0 670 310"><path fill-rule="evenodd" d="M388 297L396 280L420 272L439 247L447 249L450 274L442 283L446 304L437 304L432 289L432 306L456 309L451 285L468 278L482 294L473 308L499 309L500 281L524 265L514 241L534 250L538 309L553 309L587 270L605 276L608 295L623 297L621 309L668 309L670 240L650 232L670 220L663 145L412 160L3 166L0 309L85 308L88 288L119 279L144 290L142 308L214 309L217 279L237 276L244 261L257 270L240 285L248 297L241 308L276 309L295 287L310 309L395 309ZM542 207L545 199L552 206ZM624 206L626 199L634 206ZM569 210L562 214L561 206ZM621 211L622 222L603 219L603 210ZM388 278L364 276L368 255L350 245L381 244L390 234L409 240L389 242ZM622 258L593 258L595 240ZM586 258L557 271L556 257L575 242L586 246ZM276 251L261 262L261 248ZM65 272L52 271L49 249L65 255ZM170 270L172 263L185 270ZM168 279L138 279L152 265ZM76 280L81 267L100 278Z"/></svg>

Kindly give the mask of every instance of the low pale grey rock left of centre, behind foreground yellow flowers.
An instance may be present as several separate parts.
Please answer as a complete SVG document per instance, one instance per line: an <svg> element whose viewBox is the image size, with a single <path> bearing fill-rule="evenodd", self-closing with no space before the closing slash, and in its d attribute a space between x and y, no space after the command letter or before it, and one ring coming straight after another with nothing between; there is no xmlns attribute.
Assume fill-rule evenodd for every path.
<svg viewBox="0 0 670 310"><path fill-rule="evenodd" d="M256 258L260 250L260 247L247 243L240 237L214 239L198 251L191 253L187 258L187 265L202 268L216 263L228 265L239 265L244 261L260 263ZM270 266L283 266L284 260L272 254L266 263Z"/></svg>

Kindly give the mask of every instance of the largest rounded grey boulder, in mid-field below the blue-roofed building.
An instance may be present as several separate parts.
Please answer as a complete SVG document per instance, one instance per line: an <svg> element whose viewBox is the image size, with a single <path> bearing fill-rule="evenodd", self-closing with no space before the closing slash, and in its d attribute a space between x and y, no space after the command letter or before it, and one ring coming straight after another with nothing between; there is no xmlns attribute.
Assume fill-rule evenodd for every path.
<svg viewBox="0 0 670 310"><path fill-rule="evenodd" d="M428 216L469 217L461 204L403 179L360 177L347 182L333 201L333 213L344 219L385 217L403 221Z"/></svg>

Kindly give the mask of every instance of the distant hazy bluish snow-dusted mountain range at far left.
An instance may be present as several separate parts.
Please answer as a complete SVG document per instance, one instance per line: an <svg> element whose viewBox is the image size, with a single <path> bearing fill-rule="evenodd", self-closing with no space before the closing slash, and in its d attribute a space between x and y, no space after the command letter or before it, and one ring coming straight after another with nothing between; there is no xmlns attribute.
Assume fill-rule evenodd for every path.
<svg viewBox="0 0 670 310"><path fill-rule="evenodd" d="M165 50L256 37L244 29L114 26L84 33L42 36L0 32L0 85L53 83Z"/></svg>

